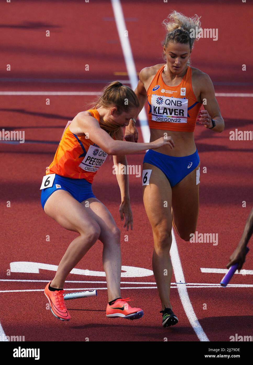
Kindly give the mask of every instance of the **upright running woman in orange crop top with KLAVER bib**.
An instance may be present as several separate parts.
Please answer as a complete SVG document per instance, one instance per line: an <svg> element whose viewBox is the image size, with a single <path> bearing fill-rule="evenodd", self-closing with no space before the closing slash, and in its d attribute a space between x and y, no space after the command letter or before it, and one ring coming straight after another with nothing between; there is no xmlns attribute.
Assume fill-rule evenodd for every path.
<svg viewBox="0 0 253 365"><path fill-rule="evenodd" d="M172 225L182 239L189 241L198 218L200 159L193 136L195 124L197 121L206 130L222 132L224 120L210 77L190 67L196 40L190 37L191 30L201 29L200 18L187 18L173 11L163 24L165 64L142 69L135 93L139 112L148 98L150 142L164 135L174 141L173 149L162 146L149 150L142 170L143 201L154 238L153 272L161 300L162 326L167 327L178 323L170 303ZM204 99L206 107L200 111ZM127 141L137 139L134 124L130 120L126 127ZM168 276L164 275L165 269Z"/></svg>

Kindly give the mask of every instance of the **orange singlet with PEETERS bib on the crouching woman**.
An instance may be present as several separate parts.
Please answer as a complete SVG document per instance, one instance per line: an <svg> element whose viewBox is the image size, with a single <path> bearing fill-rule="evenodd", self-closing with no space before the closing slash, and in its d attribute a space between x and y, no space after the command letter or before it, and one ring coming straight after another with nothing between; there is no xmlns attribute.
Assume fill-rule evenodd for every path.
<svg viewBox="0 0 253 365"><path fill-rule="evenodd" d="M88 110L91 115L100 121L99 112L96 109ZM57 174L73 179L85 179L92 183L100 166L107 158L107 153L90 139L77 136L65 129L59 143L55 158L47 168L46 175Z"/></svg>

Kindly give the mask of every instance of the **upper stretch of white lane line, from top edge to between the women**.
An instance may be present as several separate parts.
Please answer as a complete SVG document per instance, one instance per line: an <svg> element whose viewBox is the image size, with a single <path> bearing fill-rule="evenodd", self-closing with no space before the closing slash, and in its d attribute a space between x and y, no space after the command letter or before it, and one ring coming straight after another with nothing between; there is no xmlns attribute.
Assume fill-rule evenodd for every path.
<svg viewBox="0 0 253 365"><path fill-rule="evenodd" d="M133 90L136 89L138 84L138 78L136 76L136 68L133 60L133 54L129 42L129 37L125 36L127 32L125 19L123 10L120 4L120 0L111 0L113 13L116 21L117 30L119 33L120 44L122 48L122 52L125 59L126 69L130 78L130 85ZM140 121L141 132L144 139L144 142L149 142L150 139L150 131L148 126L148 120L146 116L145 106L142 108L142 111L138 115L138 119Z"/></svg>

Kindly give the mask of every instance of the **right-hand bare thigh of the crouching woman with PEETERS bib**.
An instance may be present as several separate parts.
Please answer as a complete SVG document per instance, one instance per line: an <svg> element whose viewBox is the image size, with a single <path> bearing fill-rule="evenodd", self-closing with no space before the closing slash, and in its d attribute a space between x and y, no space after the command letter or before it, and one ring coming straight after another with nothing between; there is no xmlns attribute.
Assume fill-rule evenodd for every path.
<svg viewBox="0 0 253 365"><path fill-rule="evenodd" d="M87 204L87 201L89 204ZM85 209L89 211L89 214L96 220L100 227L100 241L103 242L108 235L117 230L117 226L113 216L107 209L107 207L96 198L89 198L81 202Z"/></svg>

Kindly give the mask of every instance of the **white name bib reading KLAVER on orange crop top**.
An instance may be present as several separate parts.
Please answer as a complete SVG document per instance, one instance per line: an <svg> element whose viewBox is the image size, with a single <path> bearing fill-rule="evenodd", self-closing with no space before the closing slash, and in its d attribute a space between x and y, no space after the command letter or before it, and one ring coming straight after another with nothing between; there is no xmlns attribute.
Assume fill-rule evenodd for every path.
<svg viewBox="0 0 253 365"><path fill-rule="evenodd" d="M187 123L188 99L152 95L151 107L155 122Z"/></svg>

